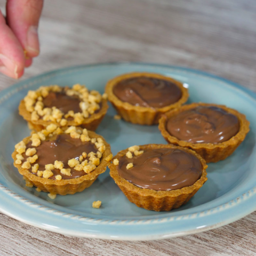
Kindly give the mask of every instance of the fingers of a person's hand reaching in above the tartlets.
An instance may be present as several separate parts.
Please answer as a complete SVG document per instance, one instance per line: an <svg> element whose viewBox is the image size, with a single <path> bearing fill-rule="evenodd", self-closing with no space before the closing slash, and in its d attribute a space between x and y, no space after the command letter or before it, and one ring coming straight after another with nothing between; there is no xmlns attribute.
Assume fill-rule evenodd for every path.
<svg viewBox="0 0 256 256"><path fill-rule="evenodd" d="M0 11L0 72L18 79L39 54L38 22L43 0L7 0Z"/></svg>

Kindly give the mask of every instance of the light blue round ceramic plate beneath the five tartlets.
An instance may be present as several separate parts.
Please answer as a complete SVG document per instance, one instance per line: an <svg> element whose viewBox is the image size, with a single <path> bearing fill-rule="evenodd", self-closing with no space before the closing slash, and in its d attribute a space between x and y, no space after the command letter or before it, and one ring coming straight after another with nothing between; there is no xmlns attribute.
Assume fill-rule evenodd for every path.
<svg viewBox="0 0 256 256"><path fill-rule="evenodd" d="M180 209L154 212L130 203L110 178L101 174L82 193L57 196L25 187L13 166L15 143L29 135L18 114L20 100L41 85L86 84L101 93L108 79L132 71L162 73L189 86L189 102L214 102L235 108L251 122L251 131L225 161L209 164L208 181ZM52 71L0 92L0 209L20 221L57 233L103 239L149 240L194 234L226 225L256 210L256 95L233 82L187 68L143 63L112 63ZM110 107L97 132L113 154L132 145L166 143L157 126L140 126L113 119ZM100 209L92 202L102 201Z"/></svg>

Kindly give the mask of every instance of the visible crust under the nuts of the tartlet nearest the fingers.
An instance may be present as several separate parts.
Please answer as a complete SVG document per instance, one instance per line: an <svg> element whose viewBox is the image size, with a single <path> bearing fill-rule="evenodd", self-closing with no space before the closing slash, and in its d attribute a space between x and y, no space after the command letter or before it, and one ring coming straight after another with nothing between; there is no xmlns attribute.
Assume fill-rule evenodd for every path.
<svg viewBox="0 0 256 256"><path fill-rule="evenodd" d="M107 110L108 110L108 102L106 99L102 99L101 108L98 113L92 114L91 116L85 118L82 124L77 124L74 120L68 120L68 123L66 126L79 126L90 131L95 131L99 126L99 124L101 123L103 117L106 115ZM57 122L44 121L43 119L32 121L31 113L26 109L24 100L21 100L20 102L19 114L28 122L29 129L35 130L37 132L45 129L45 127L49 124L55 124L61 127L60 124Z"/></svg>

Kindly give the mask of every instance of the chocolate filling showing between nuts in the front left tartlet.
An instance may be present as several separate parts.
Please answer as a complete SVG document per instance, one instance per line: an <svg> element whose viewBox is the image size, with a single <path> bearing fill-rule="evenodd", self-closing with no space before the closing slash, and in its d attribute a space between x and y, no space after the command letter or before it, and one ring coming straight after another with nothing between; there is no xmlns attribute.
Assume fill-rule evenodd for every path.
<svg viewBox="0 0 256 256"><path fill-rule="evenodd" d="M76 158L79 159L79 156L83 152L89 154L90 152L97 153L98 149L91 142L82 142L81 139L73 139L68 134L60 134L55 137L52 137L50 140L41 141L39 147L32 147L31 142L27 144L27 148L36 148L38 159L35 163L39 164L39 171L45 170L46 164L54 164L55 160L61 161L64 164L65 169L71 169L71 175L67 176L62 174L59 169L51 170L53 176L49 179L55 180L55 176L60 174L62 179L74 179L86 175L84 171L76 171L74 168L71 168L68 165L69 159ZM23 161L26 161L28 156L25 153L22 154L25 158ZM87 158L84 158L83 161ZM29 170L31 172L31 169ZM33 173L36 175L36 173Z"/></svg>

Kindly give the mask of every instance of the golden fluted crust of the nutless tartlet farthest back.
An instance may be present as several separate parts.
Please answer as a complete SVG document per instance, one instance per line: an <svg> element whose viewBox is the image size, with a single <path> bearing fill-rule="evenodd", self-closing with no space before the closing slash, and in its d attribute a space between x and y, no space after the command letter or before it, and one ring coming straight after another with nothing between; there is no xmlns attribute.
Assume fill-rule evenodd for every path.
<svg viewBox="0 0 256 256"><path fill-rule="evenodd" d="M116 95L113 93L114 86L120 81L124 79L129 79L132 77L141 77L141 76L147 76L147 77L153 77L153 78L159 78L159 79L171 81L172 83L174 83L180 88L182 92L181 98L177 102L173 103L172 105L165 106L163 108L149 108L149 107L134 106L128 102L123 102L119 100L116 97ZM110 81L108 81L105 92L108 94L108 100L111 102L111 104L117 110L118 114L121 115L125 121L131 122L133 124L142 124L142 125L158 124L158 120L162 114L164 114L165 112L171 109L179 108L183 103L187 101L189 97L188 89L183 87L182 83L180 83L179 81L171 77L166 77L163 75L147 73L147 72L142 72L142 73L135 72L135 73L129 73L129 74L117 76L111 79Z"/></svg>

